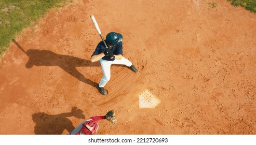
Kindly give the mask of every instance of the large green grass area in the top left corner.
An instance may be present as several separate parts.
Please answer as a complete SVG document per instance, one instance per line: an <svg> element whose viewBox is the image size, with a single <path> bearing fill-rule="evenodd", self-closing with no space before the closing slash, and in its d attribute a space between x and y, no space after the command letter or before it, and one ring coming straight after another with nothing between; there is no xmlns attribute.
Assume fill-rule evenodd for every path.
<svg viewBox="0 0 256 145"><path fill-rule="evenodd" d="M51 8L62 7L71 0L1 0L0 1L0 55L23 28L37 24Z"/></svg>

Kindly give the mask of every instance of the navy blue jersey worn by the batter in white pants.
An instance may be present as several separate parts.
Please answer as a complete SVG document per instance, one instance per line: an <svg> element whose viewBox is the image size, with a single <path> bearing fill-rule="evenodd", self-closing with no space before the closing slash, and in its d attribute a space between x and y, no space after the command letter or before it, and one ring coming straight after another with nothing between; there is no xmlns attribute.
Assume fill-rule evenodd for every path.
<svg viewBox="0 0 256 145"><path fill-rule="evenodd" d="M98 46L96 47L95 51L92 53L91 56L100 54L105 50L106 50L106 48L105 48L104 42L101 41L101 42L99 42ZM123 55L122 41L120 41L117 45L115 45L113 48L111 48L111 51L113 52L114 55L117 55L117 54ZM115 59L110 59L109 56L104 56L104 57L102 57L102 59L106 60L106 61L114 61L115 60Z"/></svg>

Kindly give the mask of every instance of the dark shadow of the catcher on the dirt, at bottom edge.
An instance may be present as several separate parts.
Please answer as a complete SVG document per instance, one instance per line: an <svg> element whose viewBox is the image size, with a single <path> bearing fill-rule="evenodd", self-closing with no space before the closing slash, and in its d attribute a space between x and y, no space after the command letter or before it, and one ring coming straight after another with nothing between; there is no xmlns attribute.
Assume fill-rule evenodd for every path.
<svg viewBox="0 0 256 145"><path fill-rule="evenodd" d="M71 112L55 115L44 112L35 113L32 115L32 119L36 123L34 132L36 135L61 135L66 129L71 133L75 126L67 117L85 119L83 111L77 107L72 107Z"/></svg>

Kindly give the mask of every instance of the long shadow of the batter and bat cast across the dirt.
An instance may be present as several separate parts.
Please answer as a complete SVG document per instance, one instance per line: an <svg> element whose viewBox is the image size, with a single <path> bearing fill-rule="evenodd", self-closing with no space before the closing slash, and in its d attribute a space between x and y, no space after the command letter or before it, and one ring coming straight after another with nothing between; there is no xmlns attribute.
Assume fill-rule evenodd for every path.
<svg viewBox="0 0 256 145"><path fill-rule="evenodd" d="M76 67L83 66L100 66L99 62L91 63L89 60L79 59L74 56L61 55L49 50L36 50L30 49L24 51L24 49L18 44L18 42L12 40L16 46L23 51L26 55L29 56L29 61L26 63L26 68L31 68L35 66L59 66L64 71L68 72L71 76L77 78L79 81L87 83L89 85L95 86L97 88L98 83L93 82L83 74L81 74Z"/></svg>

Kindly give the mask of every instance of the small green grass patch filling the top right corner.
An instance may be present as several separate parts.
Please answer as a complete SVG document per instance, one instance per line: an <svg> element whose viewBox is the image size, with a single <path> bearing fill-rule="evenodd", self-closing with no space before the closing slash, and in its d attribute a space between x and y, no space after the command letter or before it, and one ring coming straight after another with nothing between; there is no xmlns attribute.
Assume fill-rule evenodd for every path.
<svg viewBox="0 0 256 145"><path fill-rule="evenodd" d="M256 13L256 0L227 0L231 2L234 6L241 6Z"/></svg>

